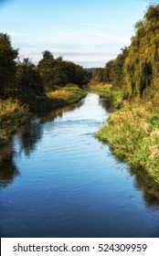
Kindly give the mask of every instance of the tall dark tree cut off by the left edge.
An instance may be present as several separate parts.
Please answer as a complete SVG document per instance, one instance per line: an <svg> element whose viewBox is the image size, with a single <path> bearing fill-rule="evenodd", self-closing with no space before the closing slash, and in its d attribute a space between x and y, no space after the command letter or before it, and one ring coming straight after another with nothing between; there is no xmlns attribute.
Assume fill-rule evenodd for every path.
<svg viewBox="0 0 159 256"><path fill-rule="evenodd" d="M0 33L0 94L14 84L18 49L12 48L10 37Z"/></svg>

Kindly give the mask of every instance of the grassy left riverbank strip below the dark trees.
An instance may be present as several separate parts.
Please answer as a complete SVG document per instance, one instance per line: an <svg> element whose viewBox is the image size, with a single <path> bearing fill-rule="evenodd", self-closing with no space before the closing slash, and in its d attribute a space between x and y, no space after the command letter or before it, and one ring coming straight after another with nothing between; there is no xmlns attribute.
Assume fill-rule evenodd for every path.
<svg viewBox="0 0 159 256"><path fill-rule="evenodd" d="M68 86L60 90L50 91L42 97L37 97L29 104L18 100L0 101L0 145L5 144L17 128L26 123L32 112L44 114L59 107L80 101L87 95L86 91L76 86Z"/></svg>

